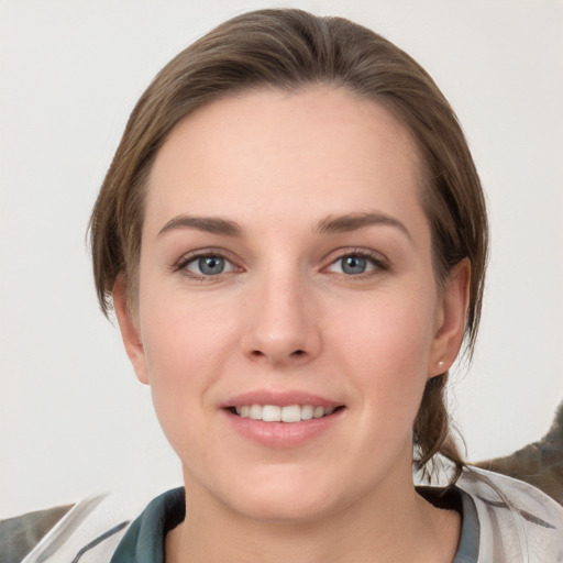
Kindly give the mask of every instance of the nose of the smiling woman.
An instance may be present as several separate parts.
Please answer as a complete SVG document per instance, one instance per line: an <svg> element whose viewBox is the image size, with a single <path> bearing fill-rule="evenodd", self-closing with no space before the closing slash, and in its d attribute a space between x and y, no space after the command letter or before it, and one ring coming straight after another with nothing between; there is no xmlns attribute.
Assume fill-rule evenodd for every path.
<svg viewBox="0 0 563 563"><path fill-rule="evenodd" d="M299 274L264 276L249 296L244 353L275 366L301 365L321 350L314 299Z"/></svg>

